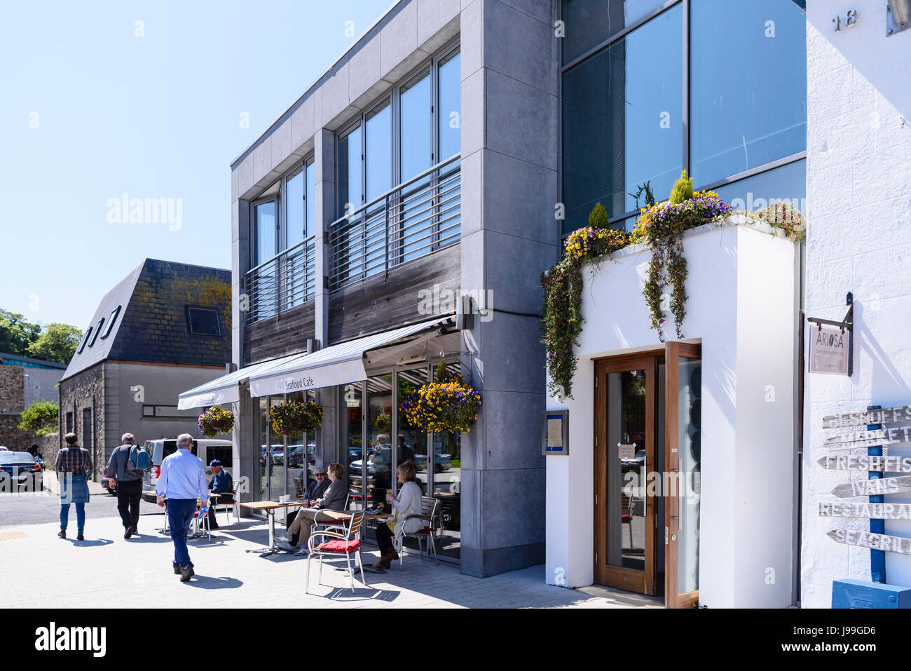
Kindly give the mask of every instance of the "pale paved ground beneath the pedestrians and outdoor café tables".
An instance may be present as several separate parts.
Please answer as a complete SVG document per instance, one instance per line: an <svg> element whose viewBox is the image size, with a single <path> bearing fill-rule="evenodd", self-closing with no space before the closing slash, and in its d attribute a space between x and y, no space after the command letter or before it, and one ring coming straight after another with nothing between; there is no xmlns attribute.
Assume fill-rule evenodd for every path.
<svg viewBox="0 0 911 671"><path fill-rule="evenodd" d="M87 521L86 541L61 540L57 525L34 524L0 528L23 532L25 538L0 541L0 572L21 573L28 568L36 580L5 583L0 607L333 607L333 608L489 608L489 607L655 607L641 598L630 604L630 595L609 591L586 594L548 585L544 567L479 579L458 573L454 566L422 563L406 555L404 571L395 563L383 574L365 573L368 587L350 581L325 564L322 584L312 563L311 592L304 594L306 560L277 554L261 557L248 549L267 542L264 522L245 519L222 527L212 541L189 542L197 575L180 583L171 570L173 545L155 531L164 517L143 515L141 535L123 540L119 518ZM75 537L75 519L71 520ZM374 563L378 552L366 545L365 563ZM342 560L343 563L343 560ZM338 565L338 563L336 563ZM360 577L360 572L356 573Z"/></svg>

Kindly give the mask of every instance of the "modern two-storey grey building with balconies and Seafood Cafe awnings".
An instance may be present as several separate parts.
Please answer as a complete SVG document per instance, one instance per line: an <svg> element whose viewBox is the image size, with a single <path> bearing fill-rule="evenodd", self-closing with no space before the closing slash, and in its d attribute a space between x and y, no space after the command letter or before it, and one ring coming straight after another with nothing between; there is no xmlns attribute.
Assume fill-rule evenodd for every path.
<svg viewBox="0 0 911 671"><path fill-rule="evenodd" d="M441 501L442 559L478 576L544 561L555 8L396 3L232 163L238 370L180 407L233 404L243 496L293 495L303 462L337 460L363 505L413 458ZM398 410L441 358L483 397L460 436ZM322 427L285 450L268 410L303 394Z"/></svg>

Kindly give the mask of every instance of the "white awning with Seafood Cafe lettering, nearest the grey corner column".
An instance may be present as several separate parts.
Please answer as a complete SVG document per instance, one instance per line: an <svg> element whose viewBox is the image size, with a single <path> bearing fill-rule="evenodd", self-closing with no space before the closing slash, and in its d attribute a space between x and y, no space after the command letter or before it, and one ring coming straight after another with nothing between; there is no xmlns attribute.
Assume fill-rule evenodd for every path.
<svg viewBox="0 0 911 671"><path fill-rule="evenodd" d="M258 397L293 394L305 389L360 382L367 379L364 366L364 356L367 352L394 345L422 332L430 332L427 336L435 335L435 331L447 325L455 325L455 316L436 317L421 324L403 326L374 336L364 336L311 354L288 356L273 361L273 366L251 372L250 395Z"/></svg>

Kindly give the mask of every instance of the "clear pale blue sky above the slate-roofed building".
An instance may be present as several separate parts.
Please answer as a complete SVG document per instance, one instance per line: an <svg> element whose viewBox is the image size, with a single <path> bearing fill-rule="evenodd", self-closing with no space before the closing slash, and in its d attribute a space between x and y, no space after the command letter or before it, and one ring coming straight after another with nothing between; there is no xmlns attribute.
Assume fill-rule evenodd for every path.
<svg viewBox="0 0 911 671"><path fill-rule="evenodd" d="M0 308L84 330L147 257L230 269L230 161L392 4L4 3ZM182 227L108 222L124 192Z"/></svg>

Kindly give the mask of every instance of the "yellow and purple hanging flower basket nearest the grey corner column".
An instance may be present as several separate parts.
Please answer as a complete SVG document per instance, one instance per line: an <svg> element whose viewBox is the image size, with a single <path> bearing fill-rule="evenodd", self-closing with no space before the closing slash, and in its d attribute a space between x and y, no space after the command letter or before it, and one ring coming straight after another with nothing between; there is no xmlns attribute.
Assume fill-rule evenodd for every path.
<svg viewBox="0 0 911 671"><path fill-rule="evenodd" d="M481 407L481 395L462 376L447 373L445 362L436 368L435 382L418 387L402 401L408 423L427 433L469 431Z"/></svg>

